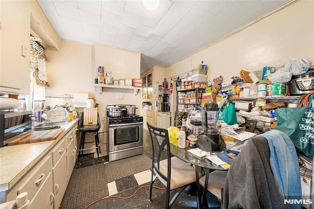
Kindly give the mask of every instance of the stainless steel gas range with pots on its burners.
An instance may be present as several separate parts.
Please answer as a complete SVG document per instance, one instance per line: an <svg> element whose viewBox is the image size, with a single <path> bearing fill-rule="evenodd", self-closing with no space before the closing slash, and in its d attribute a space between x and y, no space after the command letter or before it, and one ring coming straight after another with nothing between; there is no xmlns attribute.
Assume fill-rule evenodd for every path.
<svg viewBox="0 0 314 209"><path fill-rule="evenodd" d="M135 105L106 106L109 161L143 154L143 117L128 114L127 107L136 108Z"/></svg>

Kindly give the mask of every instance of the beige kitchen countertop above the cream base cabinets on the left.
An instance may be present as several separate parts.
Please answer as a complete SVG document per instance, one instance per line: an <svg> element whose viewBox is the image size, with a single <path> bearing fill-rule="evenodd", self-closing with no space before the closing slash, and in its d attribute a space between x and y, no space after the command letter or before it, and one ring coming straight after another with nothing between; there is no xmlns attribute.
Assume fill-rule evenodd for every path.
<svg viewBox="0 0 314 209"><path fill-rule="evenodd" d="M1 147L0 192L12 188L77 122L75 119L67 124L61 135L52 141Z"/></svg>

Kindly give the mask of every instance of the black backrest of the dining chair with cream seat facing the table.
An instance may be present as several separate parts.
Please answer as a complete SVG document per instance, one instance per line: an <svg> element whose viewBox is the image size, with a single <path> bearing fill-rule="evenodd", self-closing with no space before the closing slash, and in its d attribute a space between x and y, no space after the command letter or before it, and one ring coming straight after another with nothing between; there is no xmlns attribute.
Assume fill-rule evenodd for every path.
<svg viewBox="0 0 314 209"><path fill-rule="evenodd" d="M168 168L171 168L171 153L170 153L170 144L169 136L167 129L161 129L150 125L147 122L148 130L151 136L152 142L152 163L155 172L165 181L167 177L170 179L171 169L168 169L167 176L163 175L159 170L159 162L161 160L168 160ZM170 181L167 181L170 182ZM169 185L170 186L170 185Z"/></svg>

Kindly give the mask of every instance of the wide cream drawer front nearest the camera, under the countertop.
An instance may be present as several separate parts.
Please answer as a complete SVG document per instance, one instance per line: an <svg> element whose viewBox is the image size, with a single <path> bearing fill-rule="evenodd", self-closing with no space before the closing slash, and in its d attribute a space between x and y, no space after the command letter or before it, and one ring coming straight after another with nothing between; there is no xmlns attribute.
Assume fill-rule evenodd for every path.
<svg viewBox="0 0 314 209"><path fill-rule="evenodd" d="M41 165L34 170L33 174L26 179L24 185L18 189L17 195L27 192L27 197L31 200L35 193L40 189L43 183L48 178L48 175L52 172L52 157L49 155ZM52 182L51 182L52 183Z"/></svg>

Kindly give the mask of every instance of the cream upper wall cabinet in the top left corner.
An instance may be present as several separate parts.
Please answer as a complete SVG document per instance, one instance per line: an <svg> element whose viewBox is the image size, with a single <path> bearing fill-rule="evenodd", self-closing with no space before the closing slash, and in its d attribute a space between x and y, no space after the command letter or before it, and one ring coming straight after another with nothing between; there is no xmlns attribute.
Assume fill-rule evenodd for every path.
<svg viewBox="0 0 314 209"><path fill-rule="evenodd" d="M29 94L28 1L0 1L0 92Z"/></svg>

